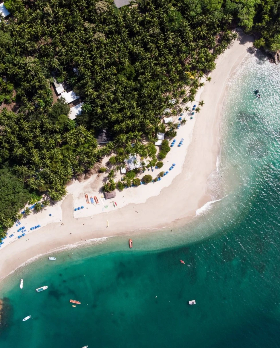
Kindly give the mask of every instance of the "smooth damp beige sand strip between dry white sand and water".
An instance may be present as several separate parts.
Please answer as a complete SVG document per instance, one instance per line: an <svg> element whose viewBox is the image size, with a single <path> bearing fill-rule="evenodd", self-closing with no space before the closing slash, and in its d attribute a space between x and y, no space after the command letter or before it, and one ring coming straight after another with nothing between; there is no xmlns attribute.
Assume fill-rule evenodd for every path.
<svg viewBox="0 0 280 348"><path fill-rule="evenodd" d="M209 175L217 166L219 124L227 93L227 81L248 54L247 49L252 42L253 37L242 35L241 42L232 42L217 58L216 69L211 73L212 79L207 82L201 93L205 105L195 116L197 119L186 156L183 158L182 171L173 177L168 186L161 188L157 195L144 200L144 203L129 203L110 212L94 215L93 219L73 216L74 199L70 192L62 203L58 204L61 208L57 207L57 210L61 209L63 224L48 223L47 226L0 250L0 279L27 260L56 248L135 231L149 229L151 233L152 230L173 229L192 220L197 210L211 201L211 197L205 193L205 188ZM181 129L184 131L188 126L189 121ZM176 170L179 169L181 168L178 165ZM143 186L149 190L150 185L157 184ZM107 220L110 222L109 228L106 227ZM24 219L22 221L24 223Z"/></svg>

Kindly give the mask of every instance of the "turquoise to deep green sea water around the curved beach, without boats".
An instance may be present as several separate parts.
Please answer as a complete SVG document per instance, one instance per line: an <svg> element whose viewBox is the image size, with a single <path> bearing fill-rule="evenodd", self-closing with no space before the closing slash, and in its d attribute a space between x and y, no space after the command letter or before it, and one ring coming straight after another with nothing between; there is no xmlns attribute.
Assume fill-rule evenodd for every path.
<svg viewBox="0 0 280 348"><path fill-rule="evenodd" d="M133 250L110 238L16 271L0 291L0 347L279 347L279 72L249 55L229 82L208 180L221 200L172 234L134 236Z"/></svg>

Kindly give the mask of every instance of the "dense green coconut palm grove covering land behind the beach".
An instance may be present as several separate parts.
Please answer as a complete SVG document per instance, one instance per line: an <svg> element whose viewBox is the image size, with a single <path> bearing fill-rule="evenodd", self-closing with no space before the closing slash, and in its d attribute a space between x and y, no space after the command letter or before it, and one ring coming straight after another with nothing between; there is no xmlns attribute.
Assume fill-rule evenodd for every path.
<svg viewBox="0 0 280 348"><path fill-rule="evenodd" d="M156 134L176 135L160 116L194 100L234 39L232 19L256 27L257 1L246 9L245 0L141 0L118 10L107 1L5 1L13 17L0 23L0 103L14 101L15 112L0 113L0 158L28 193L25 203L29 190L60 200L72 177L112 151L114 164L129 155L157 163ZM272 16L271 6L262 11ZM277 47L276 34L267 47ZM64 98L53 100L54 76L84 102L75 121ZM112 141L98 146L105 130ZM116 184L111 177L105 185Z"/></svg>

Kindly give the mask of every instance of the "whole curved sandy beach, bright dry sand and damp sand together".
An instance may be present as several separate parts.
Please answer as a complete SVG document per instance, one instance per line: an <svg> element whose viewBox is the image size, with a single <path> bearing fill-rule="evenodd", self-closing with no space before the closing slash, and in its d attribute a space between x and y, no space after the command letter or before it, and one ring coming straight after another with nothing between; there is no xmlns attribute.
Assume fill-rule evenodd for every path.
<svg viewBox="0 0 280 348"><path fill-rule="evenodd" d="M163 168L144 173L155 177L175 163L168 175L159 182L122 192L116 190L117 196L108 200L103 200L102 193L98 191L95 183L97 174L81 183L73 182L67 187L68 195L62 202L23 218L20 226L10 229L8 235L14 234L14 237L7 237L0 249L0 278L28 259L63 245L118 234L130 233L132 236L134 231L139 230L152 233L160 228L181 226L192 219L197 209L211 200L205 193L205 187L209 174L216 169L219 121L227 80L248 54L252 42L253 37L243 35L241 41L232 42L218 57L211 81L205 83L195 99L195 104L200 100L205 102L200 113L194 114L192 120L190 113L184 113L187 122L178 129L176 144L163 160ZM177 147L181 138L184 138L183 145ZM104 162L106 160L108 158ZM97 196L99 204L87 204L86 194ZM74 211L80 206L84 208ZM40 228L30 231L38 224ZM21 232L17 229L23 226L26 227L26 235L18 239Z"/></svg>

